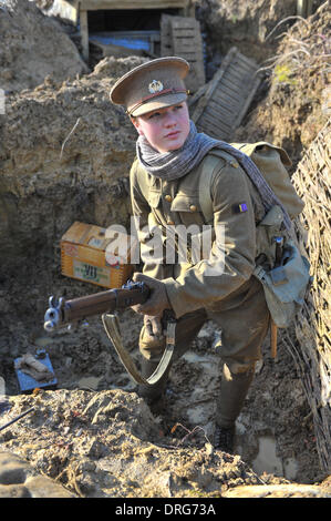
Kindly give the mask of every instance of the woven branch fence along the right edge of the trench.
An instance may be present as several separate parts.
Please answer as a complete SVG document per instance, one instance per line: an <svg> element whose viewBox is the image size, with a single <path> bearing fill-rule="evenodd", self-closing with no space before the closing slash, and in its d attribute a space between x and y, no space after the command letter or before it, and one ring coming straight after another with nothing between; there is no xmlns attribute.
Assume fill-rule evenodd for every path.
<svg viewBox="0 0 331 521"><path fill-rule="evenodd" d="M296 222L313 282L283 341L300 374L313 416L321 468L331 471L331 119L311 143L292 176L306 206Z"/></svg>

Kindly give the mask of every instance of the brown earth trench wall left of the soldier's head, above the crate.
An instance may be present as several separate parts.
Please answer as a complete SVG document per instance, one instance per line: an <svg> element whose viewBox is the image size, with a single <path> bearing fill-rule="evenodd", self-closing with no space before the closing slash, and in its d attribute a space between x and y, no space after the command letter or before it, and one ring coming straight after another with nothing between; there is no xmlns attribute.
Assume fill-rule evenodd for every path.
<svg viewBox="0 0 331 521"><path fill-rule="evenodd" d="M81 79L48 79L7 96L0 115L0 238L10 269L22 258L51 255L75 219L126 224L136 134L108 92L142 60L111 58Z"/></svg>

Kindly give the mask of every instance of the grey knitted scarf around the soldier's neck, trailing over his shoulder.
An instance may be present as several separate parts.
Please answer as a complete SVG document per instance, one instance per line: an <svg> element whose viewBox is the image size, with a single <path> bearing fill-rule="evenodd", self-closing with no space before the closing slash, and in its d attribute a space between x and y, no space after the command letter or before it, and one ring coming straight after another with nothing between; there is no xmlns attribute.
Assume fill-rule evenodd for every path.
<svg viewBox="0 0 331 521"><path fill-rule="evenodd" d="M184 145L175 151L159 153L154 150L144 136L139 136L136 144L137 157L142 166L152 175L166 181L174 181L190 172L211 149L220 149L232 155L241 168L257 187L266 213L275 205L281 207L283 224L291 228L291 219L286 208L273 193L263 175L251 159L241 151L224 141L214 140L204 133L198 133L193 121L190 131Z"/></svg>

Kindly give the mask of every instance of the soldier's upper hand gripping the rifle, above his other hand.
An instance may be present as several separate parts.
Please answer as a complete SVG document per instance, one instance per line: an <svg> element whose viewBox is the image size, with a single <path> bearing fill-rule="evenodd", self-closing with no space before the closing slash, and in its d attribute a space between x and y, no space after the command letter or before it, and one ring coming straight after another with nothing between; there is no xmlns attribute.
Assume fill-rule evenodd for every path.
<svg viewBox="0 0 331 521"><path fill-rule="evenodd" d="M147 275L144 275L143 273L135 273L133 275L133 280L135 283L145 283L151 289L151 295L144 304L132 306L134 311L142 313L143 315L161 317L165 309L172 309L165 285L162 280L147 277Z"/></svg>

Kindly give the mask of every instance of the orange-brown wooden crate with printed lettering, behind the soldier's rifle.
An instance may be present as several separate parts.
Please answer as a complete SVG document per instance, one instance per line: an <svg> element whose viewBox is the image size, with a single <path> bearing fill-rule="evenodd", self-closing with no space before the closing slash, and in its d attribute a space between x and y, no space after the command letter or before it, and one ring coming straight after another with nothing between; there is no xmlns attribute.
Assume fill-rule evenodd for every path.
<svg viewBox="0 0 331 521"><path fill-rule="evenodd" d="M121 287L133 272L130 259L134 241L130 235L123 241L127 252L121 256L112 251L113 238L107 237L105 228L74 222L61 238L62 275L102 287Z"/></svg>

